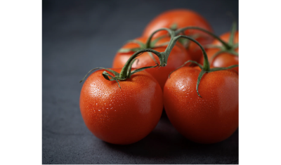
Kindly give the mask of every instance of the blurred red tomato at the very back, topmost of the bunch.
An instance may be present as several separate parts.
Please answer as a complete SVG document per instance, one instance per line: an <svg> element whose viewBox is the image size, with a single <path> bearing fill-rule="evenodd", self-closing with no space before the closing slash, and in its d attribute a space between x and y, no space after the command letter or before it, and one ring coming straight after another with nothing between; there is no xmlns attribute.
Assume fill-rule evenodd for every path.
<svg viewBox="0 0 281 165"><path fill-rule="evenodd" d="M188 9L174 9L170 11L165 11L157 15L148 25L145 27L143 32L144 37L149 37L152 32L155 32L157 29L162 27L171 28L176 25L176 29L188 27L188 26L196 26L201 27L203 29L207 29L209 32L213 32L213 29L209 25L206 19L202 17L199 13L195 11L190 11ZM154 36L159 37L163 34L167 34L166 31L157 32ZM199 37L195 37L195 34L199 35ZM209 36L205 32L202 32L197 29L188 29L185 30L185 35L193 36L197 41L205 46L206 44L210 44L211 41L214 40L213 37ZM190 42L187 50L189 51L192 60L200 62L200 58L202 57L202 51L197 44Z"/></svg>

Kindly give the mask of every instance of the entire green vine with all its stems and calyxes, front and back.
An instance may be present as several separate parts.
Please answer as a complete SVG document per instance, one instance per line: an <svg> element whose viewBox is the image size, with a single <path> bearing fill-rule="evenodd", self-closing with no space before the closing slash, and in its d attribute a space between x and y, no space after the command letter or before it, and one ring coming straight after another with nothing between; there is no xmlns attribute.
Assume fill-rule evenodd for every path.
<svg viewBox="0 0 281 165"><path fill-rule="evenodd" d="M207 53L206 51L204 50L203 46L198 42L196 41L195 39L193 39L192 37L188 37L188 36L185 36L185 35L178 35L178 34L181 34L182 32L184 32L186 29L200 29L202 30L203 32L206 32L207 34L210 34L211 36L213 36L214 38L218 39L218 41L221 41L221 43L223 44L224 48L226 48L226 51L229 51L229 50L233 50L233 48L235 48L236 46L239 46L239 44L233 44L233 35L235 33L235 24L233 25L233 29L231 31L231 37L230 37L230 41L228 43L226 43L225 41L221 40L219 37L217 37L216 35L212 34L211 32L205 30L205 29L202 29L200 27L184 27L184 28L181 28L181 29L177 29L177 30L172 30L172 29L169 29L169 28L161 28L161 29L157 29L155 32L153 32L150 37L148 38L148 41L146 42L146 44L143 44L141 41L137 41L137 40L131 40L130 42L133 42L133 43L136 43L138 44L141 48L143 49L140 49L140 48L131 48L131 49L120 49L119 52L129 52L129 51L136 51L135 53L133 53L133 55L131 55L131 57L129 58L129 60L127 60L126 64L124 65L124 67L122 68L121 72L118 73L118 72L115 72L113 70L110 70L110 69L107 69L107 68L104 68L104 67L96 67L94 68L93 70L97 70L97 69L103 69L105 70L103 72L103 77L109 81L117 81L117 84L119 86L119 88L121 88L121 86L119 85L119 81L124 81L126 79L129 79L131 78L131 75L132 74L135 74L136 72L141 72L142 70L145 70L145 69L148 69L148 68L152 68L152 67L165 67L167 65L167 60L169 58L169 54L171 53L172 51L172 48L174 48L174 46L176 45L176 41L178 41L178 39L189 39L190 41L193 41L195 42L198 46L200 46L201 50L202 50L202 53L203 53L203 56L204 56L204 62L203 62L203 65L200 65L199 63L193 61L193 60L188 60L187 62L185 62L183 65L181 65L181 67L183 67L186 63L188 62L192 62L192 63L195 63L196 65L198 65L202 71L200 72L198 78L197 78L197 86L196 86L196 91L197 91L197 95L199 95L201 98L202 96L199 94L199 91L198 91L198 86L200 84L200 80L202 79L203 75L205 73L208 73L208 72L215 72L215 71L218 71L218 70L228 70L228 69L231 69L233 67L238 67L239 65L232 65L230 67L216 67L216 68L210 68L210 65L209 65L209 60L208 60L208 57L207 57ZM151 45L155 44L156 41L151 41L152 40L152 37L154 34L156 34L157 32L161 31L161 30L166 30L167 32L169 32L169 36L171 37L169 43L167 43L168 45L166 46L166 49L164 52L158 52L158 51L155 51L153 50L152 48L147 48L147 47L150 47ZM176 36L177 35L177 36ZM225 51L225 50L223 50ZM141 54L143 54L144 52L148 52L148 53L154 53L155 55L157 55L157 57L159 58L159 61L160 61L160 65L156 63L155 66L150 66L150 67L141 67L139 69L136 69L136 70L133 70L131 71L131 66L133 65L133 62L135 62L137 60L137 57ZM156 60L155 60L156 61ZM178 67L180 68L180 67ZM178 70L178 68L176 70ZM86 76L92 72L93 70L90 70ZM175 71L175 70L174 70ZM174 72L173 71L173 72ZM114 74L114 77L112 75L110 75L108 72L111 72L112 74ZM172 73L172 72L171 72ZM170 74L171 74L170 73ZM169 77L170 77L170 74L169 74ZM84 77L84 79L86 78L86 76ZM81 81L84 81L84 79L82 79ZM80 81L80 82L81 82Z"/></svg>

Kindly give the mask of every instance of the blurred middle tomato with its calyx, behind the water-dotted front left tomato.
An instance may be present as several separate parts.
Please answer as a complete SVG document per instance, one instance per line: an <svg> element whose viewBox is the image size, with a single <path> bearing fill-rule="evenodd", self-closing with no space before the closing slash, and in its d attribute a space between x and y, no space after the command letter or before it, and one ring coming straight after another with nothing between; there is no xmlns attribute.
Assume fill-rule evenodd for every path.
<svg viewBox="0 0 281 165"><path fill-rule="evenodd" d="M162 31L159 31L162 32ZM157 33L155 33L157 34ZM126 61L131 57L131 54L146 48L151 48L155 51L164 52L169 44L170 37L159 37L155 38L152 37L151 41L148 42L148 37L139 37L134 39L133 41L129 41L127 44L122 46L122 48L117 52L115 58L112 62L113 68L123 67L126 64ZM171 53L169 53L169 58L167 60L167 65L165 67L155 67L145 70L149 72L152 77L154 77L161 88L164 88L164 84L170 72L176 70L176 68L183 65L183 63L187 60L192 60L190 53L185 51L185 48L180 44L177 43L172 49ZM132 67L134 68L141 68L141 67L148 67L151 65L155 65L159 63L159 58L154 53L151 52L144 52L141 56L138 57L138 61L134 62Z"/></svg>

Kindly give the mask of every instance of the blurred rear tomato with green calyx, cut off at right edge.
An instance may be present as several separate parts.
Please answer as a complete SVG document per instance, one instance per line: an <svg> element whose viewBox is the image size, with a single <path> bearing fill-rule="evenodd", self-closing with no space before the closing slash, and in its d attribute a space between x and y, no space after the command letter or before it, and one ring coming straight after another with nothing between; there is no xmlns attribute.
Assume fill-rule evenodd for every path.
<svg viewBox="0 0 281 165"><path fill-rule="evenodd" d="M236 30L236 23L230 32L221 34L218 39L207 48L207 55L211 67L228 67L239 65L239 31ZM202 64L204 57L201 58ZM233 68L239 74L239 67Z"/></svg>

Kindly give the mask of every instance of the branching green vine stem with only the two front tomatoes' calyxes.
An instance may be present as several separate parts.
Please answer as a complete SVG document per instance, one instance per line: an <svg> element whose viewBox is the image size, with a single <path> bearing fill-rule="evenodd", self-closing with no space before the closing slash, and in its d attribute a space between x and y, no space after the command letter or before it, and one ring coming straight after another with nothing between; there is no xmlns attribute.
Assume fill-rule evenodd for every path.
<svg viewBox="0 0 281 165"><path fill-rule="evenodd" d="M142 70L145 70L145 69L148 69L148 68L152 68L152 67L157 67L157 65L155 66L151 66L151 67L142 67L142 68L139 68L137 70L134 70L133 72L131 72L131 66L133 65L133 62L136 61L136 58L141 55L142 53L144 52L151 52L151 53L155 53L155 55L157 55L157 57L159 58L159 61L160 61L160 67L165 67L167 65L167 60L169 58L169 54L171 53L172 49L174 48L174 46L176 45L176 41L178 41L178 39L180 38L185 38L185 39L189 39L191 41L194 41L198 46L200 46L201 50L202 50L202 53L203 53L203 56L204 56L204 62L203 62L203 66L200 66L202 68L202 71L200 72L198 78L197 78L197 86L196 86L196 91L197 91L197 94L202 98L202 96L199 94L198 92L198 86L200 84L200 80L203 76L203 74L207 73L207 72L214 72L214 71L218 71L218 70L228 70L228 69L231 69L233 67L238 67L239 65L232 65L230 67L221 67L221 68L212 68L210 69L210 65L209 65L209 60L208 60L208 56L207 56L207 53L206 51L204 50L203 46L198 42L196 41L195 39L193 39L192 37L188 37L188 36L185 36L185 35L178 35L176 36L176 34L179 34L180 32L184 31L185 29L200 29L202 30L203 32L206 32L208 34L210 34L211 36L215 37L216 39L218 39L219 41L221 41L221 43L228 47L228 48L232 48L232 46L230 46L229 44L227 44L226 42L222 41L219 37L216 37L216 35L212 34L211 32L208 32L207 30L205 29L202 29L200 27L184 27L182 29L178 29L176 31L174 30L171 30L171 29L168 29L168 28L162 28L162 29L158 29L157 31L153 32L147 43L146 43L146 46L150 46L150 41L153 37L153 35L161 30L166 30L169 32L170 34L170 41L169 41L169 44L168 46L166 47L165 51L164 52L158 52L158 51L155 51L151 48L144 48L143 50L140 50L140 51L136 51L136 53L133 53L133 55L131 55L131 57L129 58L129 60L127 60L126 64L124 65L124 67L122 68L120 74L113 71L113 70L109 70L109 69L106 69L106 68L95 68L93 70L96 70L96 69L105 69L107 70L107 72L112 72L112 74L115 75L115 77L112 77L110 74L108 74L107 72L103 72L103 77L105 77L105 79L109 80L109 81L117 81L118 83L118 86L119 86L119 82L118 80L122 81L122 80L126 80L126 79L129 79L131 77L131 74L134 74L136 72L141 72ZM190 61L192 62L192 61ZM183 66L183 65L182 65ZM93 71L91 70L91 71ZM90 71L90 72L91 72ZM89 74L89 72L88 72ZM87 74L86 74L87 75ZM85 76L86 77L86 76ZM85 79L84 77L84 79ZM111 79L110 79L111 77ZM84 79L82 79L81 81L83 81ZM80 81L80 82L81 82ZM119 88L121 88L119 86Z"/></svg>

